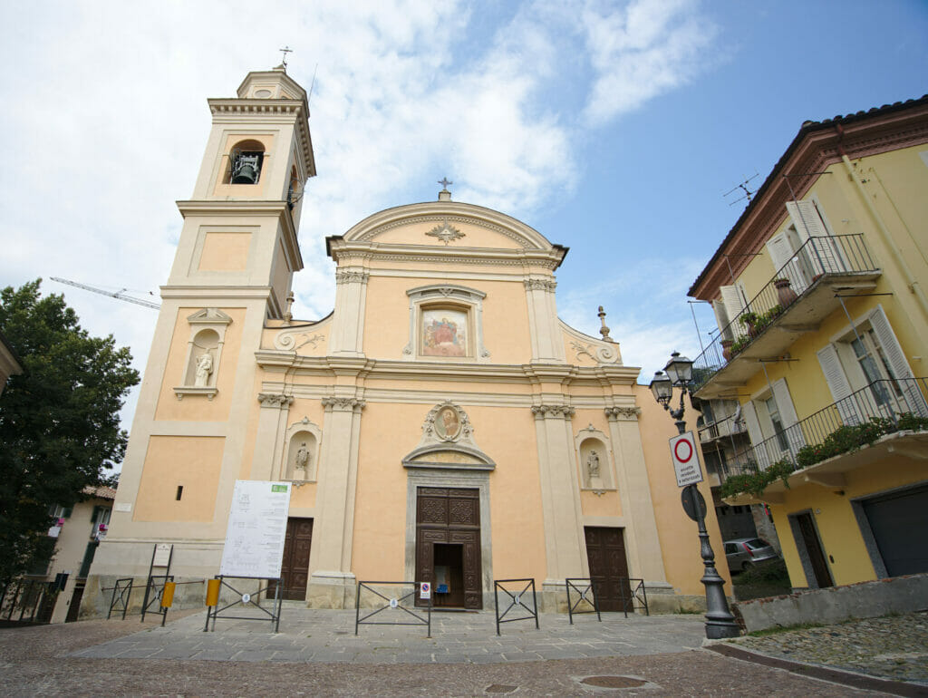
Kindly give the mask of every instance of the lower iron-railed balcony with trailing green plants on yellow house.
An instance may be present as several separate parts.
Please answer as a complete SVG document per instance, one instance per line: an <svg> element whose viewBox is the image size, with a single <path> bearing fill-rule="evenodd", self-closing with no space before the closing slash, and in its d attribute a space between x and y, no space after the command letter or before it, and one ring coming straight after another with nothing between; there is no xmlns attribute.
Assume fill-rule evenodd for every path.
<svg viewBox="0 0 928 698"><path fill-rule="evenodd" d="M928 459L928 378L873 381L739 451L723 469L723 497L778 503L797 483L841 489L844 473L889 456Z"/></svg>

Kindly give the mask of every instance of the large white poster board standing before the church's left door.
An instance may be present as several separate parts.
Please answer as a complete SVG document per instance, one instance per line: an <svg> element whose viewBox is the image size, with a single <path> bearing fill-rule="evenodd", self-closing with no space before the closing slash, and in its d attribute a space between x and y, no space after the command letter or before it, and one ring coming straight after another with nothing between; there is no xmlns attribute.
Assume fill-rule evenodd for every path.
<svg viewBox="0 0 928 698"><path fill-rule="evenodd" d="M289 510L290 483L236 480L219 574L277 579Z"/></svg>

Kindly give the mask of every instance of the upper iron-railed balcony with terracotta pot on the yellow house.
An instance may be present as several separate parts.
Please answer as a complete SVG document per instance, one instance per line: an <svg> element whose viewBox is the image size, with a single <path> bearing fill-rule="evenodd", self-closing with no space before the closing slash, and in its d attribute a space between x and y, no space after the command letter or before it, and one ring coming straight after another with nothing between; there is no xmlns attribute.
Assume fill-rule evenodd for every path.
<svg viewBox="0 0 928 698"><path fill-rule="evenodd" d="M840 307L839 291L871 291L881 271L864 236L809 238L693 362L695 394L719 397Z"/></svg>

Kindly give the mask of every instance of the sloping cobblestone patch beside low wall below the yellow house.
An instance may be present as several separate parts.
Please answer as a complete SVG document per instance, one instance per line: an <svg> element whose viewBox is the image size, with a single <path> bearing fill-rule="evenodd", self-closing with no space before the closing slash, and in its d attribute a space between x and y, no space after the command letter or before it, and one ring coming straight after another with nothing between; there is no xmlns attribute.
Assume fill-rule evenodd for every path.
<svg viewBox="0 0 928 698"><path fill-rule="evenodd" d="M792 661L917 681L928 688L926 612L740 638L731 644Z"/></svg>

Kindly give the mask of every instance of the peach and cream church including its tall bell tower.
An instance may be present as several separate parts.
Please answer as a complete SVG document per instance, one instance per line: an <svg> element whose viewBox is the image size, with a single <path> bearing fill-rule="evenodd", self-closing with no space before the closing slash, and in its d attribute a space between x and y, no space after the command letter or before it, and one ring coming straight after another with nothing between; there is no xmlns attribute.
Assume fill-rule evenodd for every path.
<svg viewBox="0 0 928 698"><path fill-rule="evenodd" d="M144 578L157 543L177 580L218 574L236 480L293 484L283 587L312 607L353 606L358 581L443 578L437 604L488 608L494 579L533 577L564 610L564 580L591 574L612 607L620 577L652 608L698 605L676 430L608 330L558 318L567 249L443 189L329 237L334 310L294 319L306 95L278 68L209 104L85 613ZM186 588L199 597L175 599L202 603Z"/></svg>

